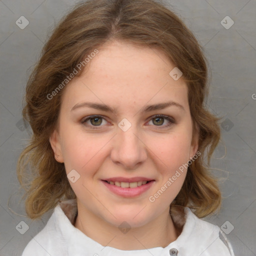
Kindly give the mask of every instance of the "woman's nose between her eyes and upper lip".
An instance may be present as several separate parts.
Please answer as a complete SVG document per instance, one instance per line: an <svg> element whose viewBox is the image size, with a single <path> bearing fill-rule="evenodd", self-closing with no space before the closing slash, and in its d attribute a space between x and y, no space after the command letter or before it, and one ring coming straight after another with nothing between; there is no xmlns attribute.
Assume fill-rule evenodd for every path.
<svg viewBox="0 0 256 256"><path fill-rule="evenodd" d="M133 170L147 158L146 145L136 125L131 125L126 131L117 127L112 143L111 160L124 169Z"/></svg>

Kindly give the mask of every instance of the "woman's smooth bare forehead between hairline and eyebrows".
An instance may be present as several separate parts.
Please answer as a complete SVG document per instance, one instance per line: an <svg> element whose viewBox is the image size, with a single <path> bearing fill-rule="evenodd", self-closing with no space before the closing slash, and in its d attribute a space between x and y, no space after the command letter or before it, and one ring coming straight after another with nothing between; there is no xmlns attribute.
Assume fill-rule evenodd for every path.
<svg viewBox="0 0 256 256"><path fill-rule="evenodd" d="M113 41L99 47L82 74L69 82L63 100L75 104L90 99L131 108L135 103L175 100L188 106L186 83L169 75L174 67L159 49Z"/></svg>

